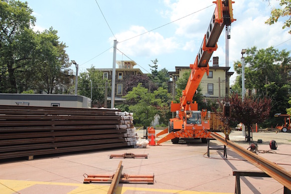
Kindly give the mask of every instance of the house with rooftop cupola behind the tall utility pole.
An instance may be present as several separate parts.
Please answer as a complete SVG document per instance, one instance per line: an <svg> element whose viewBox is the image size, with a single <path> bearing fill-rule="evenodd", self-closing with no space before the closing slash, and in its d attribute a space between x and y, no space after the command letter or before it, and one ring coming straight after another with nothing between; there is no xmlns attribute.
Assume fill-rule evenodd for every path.
<svg viewBox="0 0 291 194"><path fill-rule="evenodd" d="M140 69L134 68L136 63L134 61L116 61L117 68L115 69L115 104L122 104L125 99L122 96L125 95L125 91L123 90L124 84L126 83L126 79L131 77L132 75L143 73ZM108 69L97 69L98 71L103 72L103 79L112 80L112 68ZM107 104L111 102L111 94L108 94Z"/></svg>

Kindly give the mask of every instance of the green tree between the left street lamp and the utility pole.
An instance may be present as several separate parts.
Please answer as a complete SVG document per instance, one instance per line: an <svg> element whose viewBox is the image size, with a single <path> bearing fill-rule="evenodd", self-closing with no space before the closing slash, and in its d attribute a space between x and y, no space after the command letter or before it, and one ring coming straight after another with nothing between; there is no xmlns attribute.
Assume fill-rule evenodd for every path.
<svg viewBox="0 0 291 194"><path fill-rule="evenodd" d="M103 73L91 67L87 72L79 75L78 94L91 98L91 81L92 81L92 107L104 107L105 102L105 83L107 79L103 79ZM109 94L108 83L108 94ZM108 106L108 105L107 105Z"/></svg>

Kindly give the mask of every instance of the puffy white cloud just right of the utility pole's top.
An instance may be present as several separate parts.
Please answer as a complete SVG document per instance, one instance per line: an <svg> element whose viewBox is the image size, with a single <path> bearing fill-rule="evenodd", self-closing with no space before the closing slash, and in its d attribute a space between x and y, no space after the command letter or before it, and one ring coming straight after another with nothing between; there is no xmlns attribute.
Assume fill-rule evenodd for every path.
<svg viewBox="0 0 291 194"><path fill-rule="evenodd" d="M179 44L175 41L175 38L164 38L157 32L146 32L148 32L148 30L144 27L131 26L127 31L116 34L115 37L120 41L120 44L118 44L117 48L126 55L133 57L149 57L164 53L172 53L176 48L179 47ZM110 42L112 42L112 40L113 38L111 37Z"/></svg>

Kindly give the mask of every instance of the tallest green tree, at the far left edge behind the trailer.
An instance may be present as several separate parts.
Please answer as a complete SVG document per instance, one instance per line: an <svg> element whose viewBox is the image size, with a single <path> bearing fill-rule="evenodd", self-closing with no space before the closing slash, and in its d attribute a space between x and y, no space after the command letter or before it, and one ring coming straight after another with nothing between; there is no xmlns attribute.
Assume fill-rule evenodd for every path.
<svg viewBox="0 0 291 194"><path fill-rule="evenodd" d="M0 10L0 91L17 93L16 72L22 71L22 61L29 57L25 51L31 45L25 47L24 42L29 43L30 25L34 26L36 19L27 2L2 0Z"/></svg>

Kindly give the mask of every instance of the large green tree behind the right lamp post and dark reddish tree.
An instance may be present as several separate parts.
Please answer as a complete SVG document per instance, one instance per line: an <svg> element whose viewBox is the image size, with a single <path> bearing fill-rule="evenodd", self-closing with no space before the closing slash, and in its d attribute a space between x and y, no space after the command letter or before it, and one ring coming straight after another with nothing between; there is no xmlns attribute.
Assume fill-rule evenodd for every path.
<svg viewBox="0 0 291 194"><path fill-rule="evenodd" d="M272 98L270 118L266 124L272 122L273 114L285 113L290 96L291 57L289 51L278 51L273 47L257 50L256 47L247 49L245 57L245 88L256 89L258 96ZM241 69L236 61L234 69L239 75L233 90L241 92Z"/></svg>

